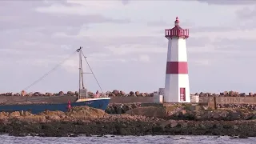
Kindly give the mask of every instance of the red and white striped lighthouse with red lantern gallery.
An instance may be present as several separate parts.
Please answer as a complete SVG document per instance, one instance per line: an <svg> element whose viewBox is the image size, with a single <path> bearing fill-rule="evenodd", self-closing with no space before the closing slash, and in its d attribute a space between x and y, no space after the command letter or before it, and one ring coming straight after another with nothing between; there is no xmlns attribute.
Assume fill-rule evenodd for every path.
<svg viewBox="0 0 256 144"><path fill-rule="evenodd" d="M186 57L186 38L189 30L179 26L178 17L174 28L166 30L168 52L164 102L190 102L190 84Z"/></svg>

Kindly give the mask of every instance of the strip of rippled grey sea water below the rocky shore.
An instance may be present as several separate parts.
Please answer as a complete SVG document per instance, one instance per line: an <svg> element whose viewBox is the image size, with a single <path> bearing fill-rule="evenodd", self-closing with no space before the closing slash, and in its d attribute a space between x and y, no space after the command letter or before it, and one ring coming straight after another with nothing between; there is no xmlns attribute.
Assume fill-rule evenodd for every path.
<svg viewBox="0 0 256 144"><path fill-rule="evenodd" d="M76 138L42 138L42 137L12 137L8 135L0 135L0 141L3 144L136 144L136 143L152 143L152 144L253 144L256 143L256 138L230 138L227 136L214 137L214 136L114 136L107 135L106 137L76 137Z"/></svg>

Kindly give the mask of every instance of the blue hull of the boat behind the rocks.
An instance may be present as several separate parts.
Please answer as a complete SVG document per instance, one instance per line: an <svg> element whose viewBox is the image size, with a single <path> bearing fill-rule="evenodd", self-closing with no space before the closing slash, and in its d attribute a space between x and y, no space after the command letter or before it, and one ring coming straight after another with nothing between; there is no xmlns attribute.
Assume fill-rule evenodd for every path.
<svg viewBox="0 0 256 144"><path fill-rule="evenodd" d="M106 110L110 102L110 98L95 98L85 102L72 102L71 107L74 106L90 106L96 109ZM13 112L13 111L30 111L32 114L38 114L45 110L60 110L63 112L68 111L68 102L66 103L53 103L53 104L17 104L17 105L0 105L0 111Z"/></svg>

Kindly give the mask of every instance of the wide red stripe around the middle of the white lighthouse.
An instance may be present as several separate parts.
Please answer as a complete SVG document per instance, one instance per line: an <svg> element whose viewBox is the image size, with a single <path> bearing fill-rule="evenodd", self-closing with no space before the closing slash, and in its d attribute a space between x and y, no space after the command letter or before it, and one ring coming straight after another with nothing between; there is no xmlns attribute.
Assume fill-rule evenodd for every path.
<svg viewBox="0 0 256 144"><path fill-rule="evenodd" d="M167 62L166 74L188 74L187 62Z"/></svg>

